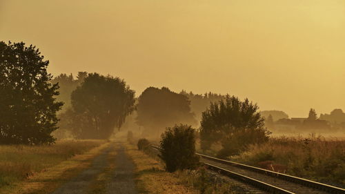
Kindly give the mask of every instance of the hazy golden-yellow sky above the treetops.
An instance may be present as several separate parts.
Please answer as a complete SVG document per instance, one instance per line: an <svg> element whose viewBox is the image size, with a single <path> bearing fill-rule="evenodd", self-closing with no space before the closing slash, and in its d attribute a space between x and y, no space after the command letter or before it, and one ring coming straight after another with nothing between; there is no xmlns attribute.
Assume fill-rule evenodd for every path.
<svg viewBox="0 0 345 194"><path fill-rule="evenodd" d="M344 0L0 0L0 40L48 70L229 93L304 117L345 110Z"/></svg>

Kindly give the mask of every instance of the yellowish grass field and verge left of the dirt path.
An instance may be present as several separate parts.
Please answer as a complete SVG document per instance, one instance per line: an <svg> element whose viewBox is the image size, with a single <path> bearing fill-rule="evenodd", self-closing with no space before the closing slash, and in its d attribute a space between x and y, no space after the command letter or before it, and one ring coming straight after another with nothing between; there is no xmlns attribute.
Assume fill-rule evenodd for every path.
<svg viewBox="0 0 345 194"><path fill-rule="evenodd" d="M0 193L49 193L86 168L105 143L70 140L52 146L0 146Z"/></svg>

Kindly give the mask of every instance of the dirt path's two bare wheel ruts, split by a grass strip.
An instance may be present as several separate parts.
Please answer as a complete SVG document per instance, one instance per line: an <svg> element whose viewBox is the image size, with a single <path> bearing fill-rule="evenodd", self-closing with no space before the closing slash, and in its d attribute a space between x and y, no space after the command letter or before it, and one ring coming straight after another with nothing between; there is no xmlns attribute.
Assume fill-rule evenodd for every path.
<svg viewBox="0 0 345 194"><path fill-rule="evenodd" d="M72 178L66 184L63 184L52 194L86 194L92 193L89 191L90 186L95 183L97 177L106 171L106 168L110 165L108 162L108 156L110 152L117 148L117 155L115 156L115 168L112 172L108 172L110 178L105 184L99 194L136 194L135 188L135 165L132 160L126 155L124 146L121 143L111 144L108 148L105 148L100 155L95 157L90 168L81 172L76 177Z"/></svg>

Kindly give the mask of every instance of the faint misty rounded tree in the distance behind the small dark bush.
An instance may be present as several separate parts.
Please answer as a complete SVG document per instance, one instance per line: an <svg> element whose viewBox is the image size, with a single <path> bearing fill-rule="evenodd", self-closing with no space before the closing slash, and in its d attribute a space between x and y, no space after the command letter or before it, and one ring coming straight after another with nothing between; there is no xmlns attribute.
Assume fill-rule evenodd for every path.
<svg viewBox="0 0 345 194"><path fill-rule="evenodd" d="M146 88L137 104L137 124L144 126L144 133L159 137L166 126L178 123L196 123L188 97L168 88Z"/></svg>

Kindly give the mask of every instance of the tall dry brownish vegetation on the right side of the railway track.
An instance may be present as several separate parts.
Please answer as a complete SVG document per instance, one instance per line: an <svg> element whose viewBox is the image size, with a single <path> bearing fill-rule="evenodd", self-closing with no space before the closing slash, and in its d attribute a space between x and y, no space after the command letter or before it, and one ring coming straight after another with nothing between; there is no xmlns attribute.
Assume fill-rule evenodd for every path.
<svg viewBox="0 0 345 194"><path fill-rule="evenodd" d="M275 137L230 159L326 184L345 184L345 140L336 138Z"/></svg>

